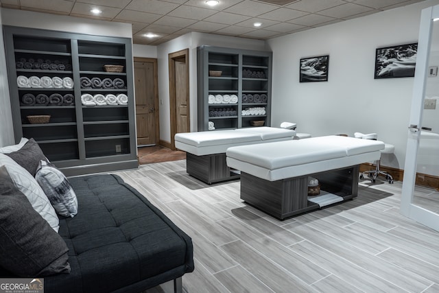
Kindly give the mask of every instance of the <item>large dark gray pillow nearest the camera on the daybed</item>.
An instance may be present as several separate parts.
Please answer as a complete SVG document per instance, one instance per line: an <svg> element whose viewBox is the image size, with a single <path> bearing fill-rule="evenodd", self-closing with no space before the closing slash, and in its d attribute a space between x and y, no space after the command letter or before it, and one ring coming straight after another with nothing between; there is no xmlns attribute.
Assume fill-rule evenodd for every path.
<svg viewBox="0 0 439 293"><path fill-rule="evenodd" d="M34 211L3 167L0 178L0 266L19 277L69 273L69 249ZM6 172L7 174L7 172Z"/></svg>

